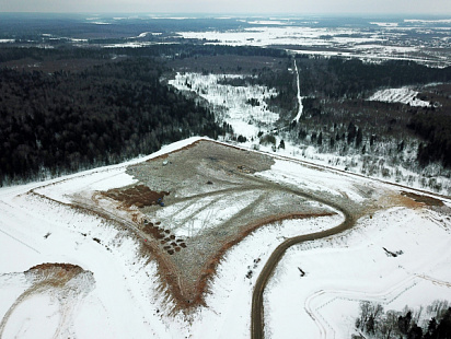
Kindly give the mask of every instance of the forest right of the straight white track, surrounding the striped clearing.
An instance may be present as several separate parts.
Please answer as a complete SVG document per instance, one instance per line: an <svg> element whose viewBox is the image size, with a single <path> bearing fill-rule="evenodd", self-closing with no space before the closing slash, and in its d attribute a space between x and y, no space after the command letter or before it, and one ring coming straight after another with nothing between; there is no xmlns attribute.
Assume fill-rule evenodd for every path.
<svg viewBox="0 0 451 339"><path fill-rule="evenodd" d="M428 68L413 61L368 63L361 60L297 59L303 115L292 124L292 137L324 152L371 154L392 159L406 168L440 163L451 168L451 68ZM423 89L433 105L368 101L375 90L405 85ZM433 94L433 95L432 95ZM357 137L357 138L356 138ZM416 163L405 152L415 152ZM363 156L365 157L365 156ZM383 166L365 159L365 174ZM379 168L374 170L374 167ZM432 187L431 187L432 188Z"/></svg>

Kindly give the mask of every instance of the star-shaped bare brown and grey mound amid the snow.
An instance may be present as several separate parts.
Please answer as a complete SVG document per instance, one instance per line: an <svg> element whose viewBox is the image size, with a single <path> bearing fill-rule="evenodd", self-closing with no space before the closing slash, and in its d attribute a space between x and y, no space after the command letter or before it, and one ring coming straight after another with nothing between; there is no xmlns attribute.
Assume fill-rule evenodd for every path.
<svg viewBox="0 0 451 339"><path fill-rule="evenodd" d="M337 206L356 218L380 208L371 187L360 188L368 196L362 203L254 175L273 164L269 155L201 140L129 166L136 184L94 192L82 208L131 231L142 255L157 258L176 307L188 309L204 304L226 250L254 230L286 219L332 215Z"/></svg>

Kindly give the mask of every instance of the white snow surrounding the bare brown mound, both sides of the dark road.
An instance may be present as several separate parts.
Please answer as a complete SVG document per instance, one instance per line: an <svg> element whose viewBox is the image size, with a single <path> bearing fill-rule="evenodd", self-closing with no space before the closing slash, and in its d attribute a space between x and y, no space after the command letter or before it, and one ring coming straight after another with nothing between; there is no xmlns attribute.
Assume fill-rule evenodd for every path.
<svg viewBox="0 0 451 339"><path fill-rule="evenodd" d="M1 338L248 338L253 287L271 252L287 237L344 220L337 213L258 229L226 253L206 306L169 314L172 301L160 289L155 260L140 256L139 242L107 220L65 204L69 195L86 188L134 183L126 166L143 160L0 189ZM256 175L350 204L366 206L369 195L379 201L378 211L362 215L345 234L288 250L265 294L271 338L349 338L360 300L401 309L451 299L449 209L432 211L415 202L408 208L389 199L400 196L400 188L286 160ZM403 254L388 257L382 247ZM78 265L84 273L39 289L24 272L44 262Z"/></svg>

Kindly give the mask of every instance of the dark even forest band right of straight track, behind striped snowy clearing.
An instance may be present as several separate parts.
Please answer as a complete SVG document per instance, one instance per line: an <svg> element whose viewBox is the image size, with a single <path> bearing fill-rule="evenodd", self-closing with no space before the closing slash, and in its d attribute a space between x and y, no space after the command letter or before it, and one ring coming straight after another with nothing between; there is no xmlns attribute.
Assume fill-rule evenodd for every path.
<svg viewBox="0 0 451 339"><path fill-rule="evenodd" d="M323 93L327 97L355 98L385 86L451 81L451 67L439 69L414 61L391 60L368 63L359 59L297 59L302 79L301 94Z"/></svg>

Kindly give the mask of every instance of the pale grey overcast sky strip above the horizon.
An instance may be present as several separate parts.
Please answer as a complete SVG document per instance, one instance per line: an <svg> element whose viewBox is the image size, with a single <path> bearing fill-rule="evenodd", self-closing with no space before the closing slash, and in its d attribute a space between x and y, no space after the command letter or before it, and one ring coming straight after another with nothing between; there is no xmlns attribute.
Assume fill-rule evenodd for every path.
<svg viewBox="0 0 451 339"><path fill-rule="evenodd" d="M0 12L451 15L451 0L0 0Z"/></svg>

